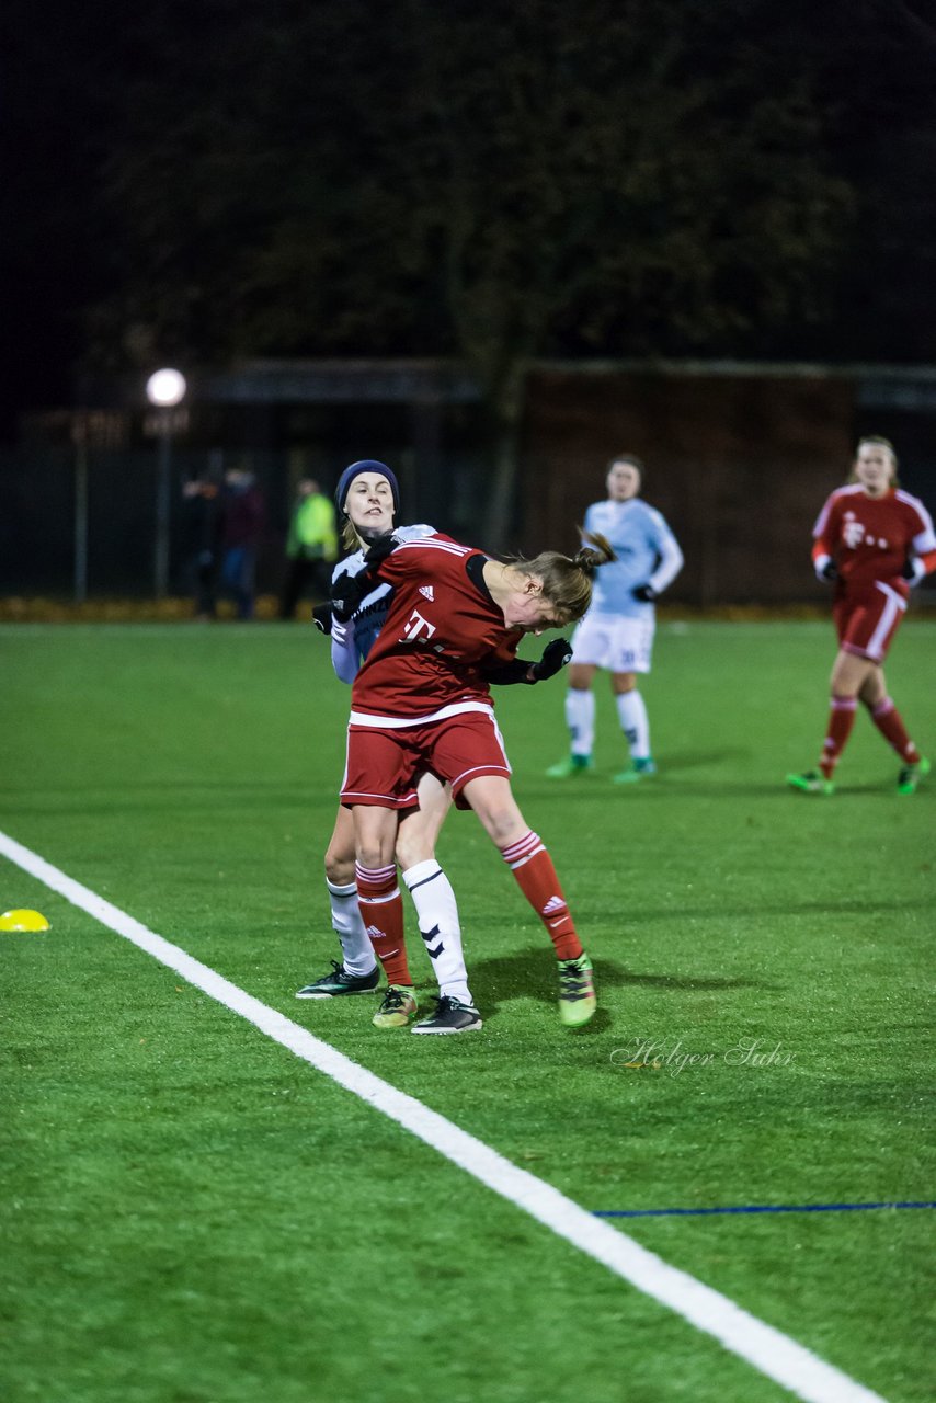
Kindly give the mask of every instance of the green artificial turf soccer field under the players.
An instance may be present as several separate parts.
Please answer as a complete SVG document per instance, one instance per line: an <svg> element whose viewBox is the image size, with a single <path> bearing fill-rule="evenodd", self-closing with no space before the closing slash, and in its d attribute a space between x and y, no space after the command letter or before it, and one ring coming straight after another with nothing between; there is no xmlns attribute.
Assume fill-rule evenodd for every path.
<svg viewBox="0 0 936 1403"><path fill-rule="evenodd" d="M900 798L860 716L834 798L784 788L831 654L828 624L662 624L661 774L634 790L609 781L606 687L596 773L567 784L543 777L561 679L498 694L596 965L578 1034L469 814L441 857L484 1030L379 1033L368 998L293 998L337 951L348 706L309 626L0 629L0 831L589 1215L648 1214L603 1223L817 1365L922 1403L936 774ZM888 675L933 758L935 662L936 624L908 623ZM794 1396L0 857L15 906L52 929L0 934L8 1403ZM929 1207L842 1207L869 1204ZM800 1396L867 1396L848 1388Z"/></svg>

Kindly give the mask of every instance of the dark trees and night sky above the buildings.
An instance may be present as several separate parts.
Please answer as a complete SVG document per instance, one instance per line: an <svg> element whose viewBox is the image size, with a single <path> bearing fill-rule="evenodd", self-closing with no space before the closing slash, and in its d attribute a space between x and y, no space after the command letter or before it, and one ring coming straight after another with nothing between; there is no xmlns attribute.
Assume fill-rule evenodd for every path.
<svg viewBox="0 0 936 1403"><path fill-rule="evenodd" d="M14 0L11 408L77 368L936 358L922 0Z"/></svg>

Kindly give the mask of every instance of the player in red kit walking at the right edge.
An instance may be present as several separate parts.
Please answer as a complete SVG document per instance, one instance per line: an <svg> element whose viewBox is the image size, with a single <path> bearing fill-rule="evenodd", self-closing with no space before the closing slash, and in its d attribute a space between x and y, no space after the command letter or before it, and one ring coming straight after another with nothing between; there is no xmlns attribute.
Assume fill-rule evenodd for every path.
<svg viewBox="0 0 936 1403"><path fill-rule="evenodd" d="M936 570L936 535L923 504L897 485L897 455L887 439L859 442L849 484L832 492L813 535L815 572L835 581L839 651L818 769L787 774L787 783L805 794L832 794L835 766L862 702L901 758L898 793L914 794L930 766L887 694L883 664L911 584Z"/></svg>

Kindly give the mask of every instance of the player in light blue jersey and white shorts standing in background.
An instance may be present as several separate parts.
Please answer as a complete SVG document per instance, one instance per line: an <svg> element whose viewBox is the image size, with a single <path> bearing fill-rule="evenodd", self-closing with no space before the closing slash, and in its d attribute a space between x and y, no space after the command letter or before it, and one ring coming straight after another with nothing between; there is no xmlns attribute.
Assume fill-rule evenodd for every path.
<svg viewBox="0 0 936 1403"><path fill-rule="evenodd" d="M661 513L637 495L643 476L639 457L622 453L612 459L608 501L594 502L585 512L585 530L606 536L617 560L596 572L592 606L573 636L566 693L571 752L546 772L550 779L568 779L592 767L592 680L598 668L610 672L620 728L630 746L631 763L615 774L615 783L629 784L657 772L637 673L650 672L657 627L654 599L682 570L682 551Z"/></svg>

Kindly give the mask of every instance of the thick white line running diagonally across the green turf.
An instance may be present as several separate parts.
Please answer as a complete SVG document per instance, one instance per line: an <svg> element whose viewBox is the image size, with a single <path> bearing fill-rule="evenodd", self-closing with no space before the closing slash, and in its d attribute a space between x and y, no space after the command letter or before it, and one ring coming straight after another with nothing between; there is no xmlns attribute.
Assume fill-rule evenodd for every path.
<svg viewBox="0 0 936 1403"><path fill-rule="evenodd" d="M671 1267L641 1247L619 1228L595 1218L559 1190L518 1169L488 1145L459 1129L415 1097L358 1066L328 1042L307 1033L282 1013L261 1003L237 985L209 969L178 946L164 940L132 916L97 897L87 887L52 867L45 859L0 832L0 853L24 871L80 906L101 925L146 950L182 979L240 1014L267 1037L324 1072L340 1086L387 1115L439 1155L472 1174L501 1198L521 1208L557 1236L601 1261L639 1291L675 1310L696 1329L714 1336L726 1350L747 1360L766 1378L805 1403L884 1403L877 1393L856 1383L796 1340L765 1324L711 1287Z"/></svg>

